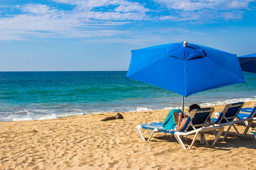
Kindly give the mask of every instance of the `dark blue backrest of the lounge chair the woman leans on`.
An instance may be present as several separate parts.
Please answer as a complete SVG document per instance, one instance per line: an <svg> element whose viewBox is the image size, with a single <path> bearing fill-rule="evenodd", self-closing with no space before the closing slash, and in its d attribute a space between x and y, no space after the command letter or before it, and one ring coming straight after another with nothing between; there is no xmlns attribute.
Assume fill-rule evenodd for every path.
<svg viewBox="0 0 256 170"><path fill-rule="evenodd" d="M188 119L180 131L187 132L199 129L205 125L207 126L207 120L209 120L213 111L213 107L193 109L188 115Z"/></svg>

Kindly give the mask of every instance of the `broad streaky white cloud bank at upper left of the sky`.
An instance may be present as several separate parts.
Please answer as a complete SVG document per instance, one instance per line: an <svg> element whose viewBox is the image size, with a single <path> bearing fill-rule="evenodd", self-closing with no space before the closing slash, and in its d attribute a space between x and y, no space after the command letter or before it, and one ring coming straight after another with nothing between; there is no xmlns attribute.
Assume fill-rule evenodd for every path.
<svg viewBox="0 0 256 170"><path fill-rule="evenodd" d="M126 2L126 11L131 11L129 4L134 5ZM136 6L141 5L135 3ZM22 11L20 14L0 18L0 40L26 40L29 36L41 39L117 36L120 34L117 26L147 18L144 12L140 13L142 8L135 8L137 12L116 12L77 9L61 11L45 4L24 4L16 7ZM147 10L144 8L144 11Z"/></svg>

